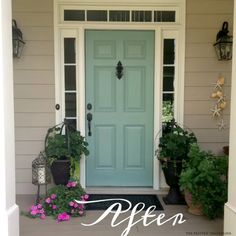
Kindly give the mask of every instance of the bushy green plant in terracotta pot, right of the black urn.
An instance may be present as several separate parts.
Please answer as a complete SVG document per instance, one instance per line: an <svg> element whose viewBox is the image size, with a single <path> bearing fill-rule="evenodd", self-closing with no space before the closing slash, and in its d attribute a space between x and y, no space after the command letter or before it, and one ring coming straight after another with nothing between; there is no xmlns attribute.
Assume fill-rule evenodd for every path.
<svg viewBox="0 0 236 236"><path fill-rule="evenodd" d="M215 156L191 146L189 160L180 175L180 186L185 191L188 211L214 219L223 213L227 201L227 156Z"/></svg>

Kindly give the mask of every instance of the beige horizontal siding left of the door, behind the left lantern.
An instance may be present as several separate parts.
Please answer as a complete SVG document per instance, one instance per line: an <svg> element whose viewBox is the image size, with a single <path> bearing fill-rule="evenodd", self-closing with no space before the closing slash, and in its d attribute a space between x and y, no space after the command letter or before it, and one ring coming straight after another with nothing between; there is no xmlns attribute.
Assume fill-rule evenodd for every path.
<svg viewBox="0 0 236 236"><path fill-rule="evenodd" d="M53 0L13 0L26 45L14 59L16 191L32 194L31 164L55 124Z"/></svg>

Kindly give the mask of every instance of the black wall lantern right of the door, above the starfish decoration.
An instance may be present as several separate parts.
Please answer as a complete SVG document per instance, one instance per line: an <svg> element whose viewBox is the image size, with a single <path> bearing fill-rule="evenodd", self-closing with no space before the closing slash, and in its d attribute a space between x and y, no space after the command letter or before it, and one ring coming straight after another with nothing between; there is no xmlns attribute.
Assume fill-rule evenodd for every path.
<svg viewBox="0 0 236 236"><path fill-rule="evenodd" d="M219 61L228 61L232 59L233 37L228 35L228 22L225 21L222 29L216 36L214 47Z"/></svg>

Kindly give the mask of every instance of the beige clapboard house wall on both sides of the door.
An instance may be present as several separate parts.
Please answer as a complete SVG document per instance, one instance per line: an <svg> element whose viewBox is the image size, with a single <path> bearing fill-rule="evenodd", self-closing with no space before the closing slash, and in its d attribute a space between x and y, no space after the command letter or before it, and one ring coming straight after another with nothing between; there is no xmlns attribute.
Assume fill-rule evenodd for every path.
<svg viewBox="0 0 236 236"><path fill-rule="evenodd" d="M43 149L48 127L55 123L53 0L13 0L13 18L26 45L14 59L17 193L34 193L31 162ZM187 0L185 125L202 147L219 152L228 144L228 128L218 131L212 121L212 83L226 78L230 97L231 62L218 62L212 46L223 21L232 28L233 0ZM229 106L225 110L229 124Z"/></svg>

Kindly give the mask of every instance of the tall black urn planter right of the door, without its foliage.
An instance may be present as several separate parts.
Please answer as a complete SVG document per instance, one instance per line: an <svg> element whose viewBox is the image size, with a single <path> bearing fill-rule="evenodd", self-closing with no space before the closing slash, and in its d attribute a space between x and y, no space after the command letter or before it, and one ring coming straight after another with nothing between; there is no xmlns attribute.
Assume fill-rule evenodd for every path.
<svg viewBox="0 0 236 236"><path fill-rule="evenodd" d="M161 160L166 183L170 186L169 192L163 201L166 204L184 204L184 197L179 188L179 176L182 171L182 161Z"/></svg>

